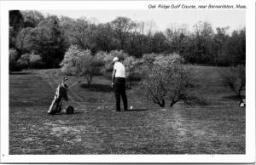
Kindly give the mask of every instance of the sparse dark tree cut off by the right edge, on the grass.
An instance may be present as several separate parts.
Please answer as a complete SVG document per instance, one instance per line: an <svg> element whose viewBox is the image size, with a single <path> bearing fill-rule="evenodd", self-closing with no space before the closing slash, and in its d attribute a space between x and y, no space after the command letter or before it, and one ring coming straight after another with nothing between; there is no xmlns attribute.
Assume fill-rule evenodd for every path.
<svg viewBox="0 0 256 165"><path fill-rule="evenodd" d="M220 71L222 84L230 88L242 101L241 93L246 89L246 71L244 65L228 67Z"/></svg>

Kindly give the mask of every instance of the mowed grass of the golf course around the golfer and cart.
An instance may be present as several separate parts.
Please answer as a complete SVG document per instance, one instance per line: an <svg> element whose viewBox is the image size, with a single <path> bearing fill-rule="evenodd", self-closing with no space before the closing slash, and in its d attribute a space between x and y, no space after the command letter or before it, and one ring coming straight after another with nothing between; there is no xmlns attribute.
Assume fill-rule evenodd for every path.
<svg viewBox="0 0 256 165"><path fill-rule="evenodd" d="M60 70L9 75L9 154L245 154L245 108L221 86L218 67L193 66L208 105L160 108L127 90L133 111L113 111L108 76L68 91L73 115L47 114ZM80 77L69 77L72 84Z"/></svg>

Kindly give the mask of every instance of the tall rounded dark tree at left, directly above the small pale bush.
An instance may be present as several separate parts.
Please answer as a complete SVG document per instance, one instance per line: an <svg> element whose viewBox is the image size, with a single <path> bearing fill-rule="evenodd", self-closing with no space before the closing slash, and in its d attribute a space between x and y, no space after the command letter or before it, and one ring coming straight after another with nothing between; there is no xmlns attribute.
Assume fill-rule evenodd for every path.
<svg viewBox="0 0 256 165"><path fill-rule="evenodd" d="M41 54L44 67L59 67L65 52L59 19L50 15L32 28L28 37L31 52Z"/></svg>

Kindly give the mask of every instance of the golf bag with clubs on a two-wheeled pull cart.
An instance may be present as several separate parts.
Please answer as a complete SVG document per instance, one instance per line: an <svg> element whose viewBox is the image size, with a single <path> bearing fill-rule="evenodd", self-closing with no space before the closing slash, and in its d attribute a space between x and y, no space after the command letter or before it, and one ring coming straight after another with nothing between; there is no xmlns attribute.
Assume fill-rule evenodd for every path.
<svg viewBox="0 0 256 165"><path fill-rule="evenodd" d="M62 105L64 105L66 107L67 114L74 113L73 106L72 105L67 106L63 103L63 101L66 100L68 102L67 89L72 88L75 84L81 83L81 82L73 83L70 87L68 87L66 84L66 81L67 81L67 77L64 77L62 82L59 83L58 87L56 88L54 100L52 101L51 105L49 106L48 113L50 115L55 115L56 113L61 113Z"/></svg>

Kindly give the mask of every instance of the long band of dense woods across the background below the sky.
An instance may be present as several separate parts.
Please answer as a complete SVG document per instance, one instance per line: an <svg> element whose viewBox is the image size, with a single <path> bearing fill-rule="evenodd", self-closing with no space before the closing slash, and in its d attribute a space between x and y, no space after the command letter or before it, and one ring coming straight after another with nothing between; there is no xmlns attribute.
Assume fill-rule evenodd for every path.
<svg viewBox="0 0 256 165"><path fill-rule="evenodd" d="M65 52L72 45L90 49L94 55L123 50L135 58L143 54L180 54L190 64L240 65L245 64L246 29L228 32L229 27L216 30L207 21L197 22L193 31L185 26L172 26L156 31L154 21L137 22L117 17L107 23L97 23L81 17L72 18L38 11L9 11L9 48L15 61L38 59L33 67L59 67ZM10 54L12 55L12 54ZM35 58L38 55L40 58ZM23 62L24 63L24 62Z"/></svg>

